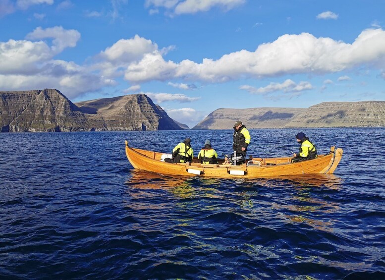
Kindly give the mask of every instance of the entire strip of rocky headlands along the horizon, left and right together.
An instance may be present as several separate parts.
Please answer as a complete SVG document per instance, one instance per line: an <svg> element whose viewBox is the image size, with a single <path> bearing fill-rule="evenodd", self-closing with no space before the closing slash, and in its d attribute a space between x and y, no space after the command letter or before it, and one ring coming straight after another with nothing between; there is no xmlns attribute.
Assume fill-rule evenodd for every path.
<svg viewBox="0 0 385 280"><path fill-rule="evenodd" d="M383 127L385 101L324 102L309 108L217 109L192 129ZM55 89L0 92L1 132L182 130L144 94L72 103Z"/></svg>

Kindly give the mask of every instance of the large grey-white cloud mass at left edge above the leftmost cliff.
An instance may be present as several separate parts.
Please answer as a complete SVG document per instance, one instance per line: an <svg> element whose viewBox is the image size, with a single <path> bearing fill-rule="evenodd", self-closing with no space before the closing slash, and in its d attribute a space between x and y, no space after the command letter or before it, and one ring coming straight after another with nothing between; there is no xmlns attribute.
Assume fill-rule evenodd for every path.
<svg viewBox="0 0 385 280"><path fill-rule="evenodd" d="M43 41L0 42L0 87L6 90L57 88L68 98L115 85L115 81L74 62L53 59L80 38L76 30L62 27L36 28L31 40L54 38L52 46Z"/></svg>

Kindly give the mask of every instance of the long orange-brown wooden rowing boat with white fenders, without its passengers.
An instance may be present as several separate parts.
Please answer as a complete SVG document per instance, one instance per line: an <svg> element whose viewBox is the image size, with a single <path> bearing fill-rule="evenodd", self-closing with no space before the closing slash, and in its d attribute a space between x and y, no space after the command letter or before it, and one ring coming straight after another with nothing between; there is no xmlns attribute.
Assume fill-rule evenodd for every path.
<svg viewBox="0 0 385 280"><path fill-rule="evenodd" d="M128 161L136 169L147 170L167 175L205 176L220 178L257 178L302 174L332 174L342 157L342 149L330 148L326 155L319 155L314 160L291 163L287 158L253 158L239 166L224 165L224 159L218 159L217 165L200 164L198 158L192 163L171 164L161 161L165 153L131 148L125 141Z"/></svg>

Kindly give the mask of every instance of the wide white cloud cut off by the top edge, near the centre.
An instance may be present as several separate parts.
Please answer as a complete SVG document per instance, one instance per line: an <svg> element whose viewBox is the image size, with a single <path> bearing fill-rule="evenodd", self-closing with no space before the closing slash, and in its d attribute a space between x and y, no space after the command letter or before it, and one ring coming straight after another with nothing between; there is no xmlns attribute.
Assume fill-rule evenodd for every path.
<svg viewBox="0 0 385 280"><path fill-rule="evenodd" d="M164 7L174 14L205 12L214 7L230 10L245 0L146 0L146 7Z"/></svg>

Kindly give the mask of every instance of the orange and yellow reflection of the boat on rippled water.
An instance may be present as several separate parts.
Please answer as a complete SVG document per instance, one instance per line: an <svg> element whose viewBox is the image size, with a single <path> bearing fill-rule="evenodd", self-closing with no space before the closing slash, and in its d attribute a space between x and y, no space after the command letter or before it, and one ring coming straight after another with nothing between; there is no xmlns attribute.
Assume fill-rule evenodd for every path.
<svg viewBox="0 0 385 280"><path fill-rule="evenodd" d="M142 197L143 190L146 190L149 197L154 194L157 194L156 197L165 195L166 190L178 199L216 198L217 201L223 202L215 204L215 207L219 208L231 200L232 203L238 203L240 208L252 217L263 215L271 217L271 209L275 209L279 213L279 219L283 218L286 220L285 223L304 223L325 231L332 231L334 227L333 221L325 219L325 215L338 211L340 206L338 203L322 199L321 194L325 191L336 191L341 184L342 179L333 174L223 179L170 176L135 169L131 170L126 180L127 186L139 190L130 192L130 196L134 198ZM286 195L276 195L274 187L287 189L287 192L284 191ZM259 192L261 188L269 188L271 191L261 196ZM279 193L282 194L280 191ZM188 207L189 203L191 202L181 200L177 204L186 204Z"/></svg>

